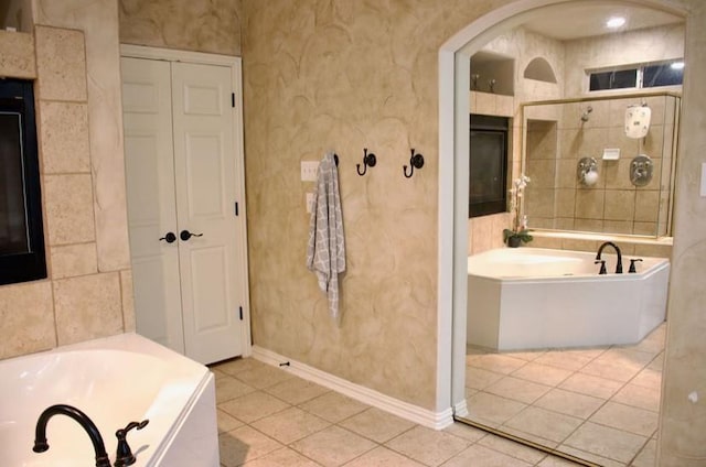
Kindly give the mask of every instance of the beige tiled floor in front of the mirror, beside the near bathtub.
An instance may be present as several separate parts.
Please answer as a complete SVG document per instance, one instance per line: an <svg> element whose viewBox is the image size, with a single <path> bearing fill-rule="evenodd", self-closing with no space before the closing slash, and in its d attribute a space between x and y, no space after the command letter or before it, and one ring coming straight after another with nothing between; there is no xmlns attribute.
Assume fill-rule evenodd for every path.
<svg viewBox="0 0 706 467"><path fill-rule="evenodd" d="M466 425L426 428L254 359L212 370L224 467L575 466Z"/></svg>

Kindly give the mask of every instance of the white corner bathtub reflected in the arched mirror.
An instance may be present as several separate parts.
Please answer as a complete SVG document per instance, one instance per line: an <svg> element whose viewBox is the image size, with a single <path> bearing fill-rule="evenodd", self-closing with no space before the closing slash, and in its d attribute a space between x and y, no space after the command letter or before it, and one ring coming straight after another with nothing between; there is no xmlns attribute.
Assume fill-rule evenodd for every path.
<svg viewBox="0 0 706 467"><path fill-rule="evenodd" d="M665 319L670 262L503 248L468 258L468 344L496 350L635 344Z"/></svg>

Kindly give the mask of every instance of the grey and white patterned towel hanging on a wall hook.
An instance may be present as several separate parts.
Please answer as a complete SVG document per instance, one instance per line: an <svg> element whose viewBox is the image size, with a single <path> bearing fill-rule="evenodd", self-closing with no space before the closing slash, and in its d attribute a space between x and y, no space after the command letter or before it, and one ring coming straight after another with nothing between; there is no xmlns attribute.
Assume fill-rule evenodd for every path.
<svg viewBox="0 0 706 467"><path fill-rule="evenodd" d="M307 267L314 271L319 287L327 293L329 312L339 315L339 274L345 271L345 240L339 192L339 171L333 153L323 156L317 171L311 206Z"/></svg>

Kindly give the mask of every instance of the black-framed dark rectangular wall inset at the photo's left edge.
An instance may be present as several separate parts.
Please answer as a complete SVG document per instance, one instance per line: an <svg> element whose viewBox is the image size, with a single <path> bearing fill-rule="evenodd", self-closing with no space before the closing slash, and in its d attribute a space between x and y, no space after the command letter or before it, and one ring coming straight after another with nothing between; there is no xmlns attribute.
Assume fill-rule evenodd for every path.
<svg viewBox="0 0 706 467"><path fill-rule="evenodd" d="M0 284L46 278L32 82L0 79Z"/></svg>

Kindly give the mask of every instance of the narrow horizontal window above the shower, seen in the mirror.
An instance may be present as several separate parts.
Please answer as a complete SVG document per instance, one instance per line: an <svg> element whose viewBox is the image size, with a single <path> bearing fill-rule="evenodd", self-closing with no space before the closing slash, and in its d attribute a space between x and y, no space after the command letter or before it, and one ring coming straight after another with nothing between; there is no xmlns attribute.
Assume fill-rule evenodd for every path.
<svg viewBox="0 0 706 467"><path fill-rule="evenodd" d="M589 73L588 90L680 86L683 77L683 59L634 65L622 69L595 70Z"/></svg>

